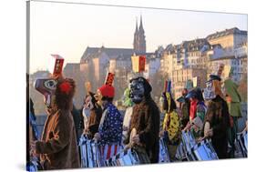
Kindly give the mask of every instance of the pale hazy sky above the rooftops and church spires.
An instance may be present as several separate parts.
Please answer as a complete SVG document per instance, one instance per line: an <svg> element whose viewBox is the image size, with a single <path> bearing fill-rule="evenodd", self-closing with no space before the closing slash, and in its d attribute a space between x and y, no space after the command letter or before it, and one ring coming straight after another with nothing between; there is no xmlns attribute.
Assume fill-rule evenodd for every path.
<svg viewBox="0 0 256 172"><path fill-rule="evenodd" d="M29 73L49 69L51 54L79 63L87 46L132 48L140 15L147 52L232 27L247 30L241 14L31 2Z"/></svg>

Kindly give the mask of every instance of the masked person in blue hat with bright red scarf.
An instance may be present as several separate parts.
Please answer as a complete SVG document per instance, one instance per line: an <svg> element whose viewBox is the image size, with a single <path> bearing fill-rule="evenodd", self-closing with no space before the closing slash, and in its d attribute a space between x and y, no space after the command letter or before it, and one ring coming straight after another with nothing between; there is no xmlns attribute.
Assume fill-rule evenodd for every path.
<svg viewBox="0 0 256 172"><path fill-rule="evenodd" d="M204 121L204 116L207 111L207 106L204 104L204 99L200 87L194 88L189 91L189 94L186 96L189 98L190 107L189 107L189 123L183 130L189 130L192 126L192 121L195 117L199 116L201 121Z"/></svg>

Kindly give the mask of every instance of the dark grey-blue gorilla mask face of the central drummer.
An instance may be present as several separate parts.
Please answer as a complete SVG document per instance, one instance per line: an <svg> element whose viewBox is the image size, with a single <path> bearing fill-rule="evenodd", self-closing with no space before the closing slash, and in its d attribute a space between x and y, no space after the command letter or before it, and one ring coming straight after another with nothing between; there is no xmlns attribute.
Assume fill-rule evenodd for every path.
<svg viewBox="0 0 256 172"><path fill-rule="evenodd" d="M145 88L143 85L143 79L133 79L130 83L130 98L135 104L139 104L144 97Z"/></svg>

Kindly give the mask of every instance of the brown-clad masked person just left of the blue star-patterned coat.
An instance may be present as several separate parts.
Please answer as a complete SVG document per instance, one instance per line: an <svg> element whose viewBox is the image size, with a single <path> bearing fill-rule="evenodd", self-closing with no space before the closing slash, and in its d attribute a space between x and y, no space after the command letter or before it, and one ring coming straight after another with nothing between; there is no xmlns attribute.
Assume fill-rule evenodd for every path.
<svg viewBox="0 0 256 172"><path fill-rule="evenodd" d="M102 116L102 108L97 105L95 94L89 92L86 98L86 104L83 110L83 116L87 117L87 126L85 126L85 133L89 139L92 139L98 132L100 118Z"/></svg>

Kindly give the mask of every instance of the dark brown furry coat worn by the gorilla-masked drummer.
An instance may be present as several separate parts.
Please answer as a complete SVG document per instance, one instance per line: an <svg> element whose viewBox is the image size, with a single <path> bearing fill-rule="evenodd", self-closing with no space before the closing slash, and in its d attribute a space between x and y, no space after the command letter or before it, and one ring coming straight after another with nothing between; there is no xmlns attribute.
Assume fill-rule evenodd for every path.
<svg viewBox="0 0 256 172"><path fill-rule="evenodd" d="M136 128L140 143L146 147L150 163L159 162L159 108L149 97L133 106L130 129ZM125 140L128 144L128 139Z"/></svg>

